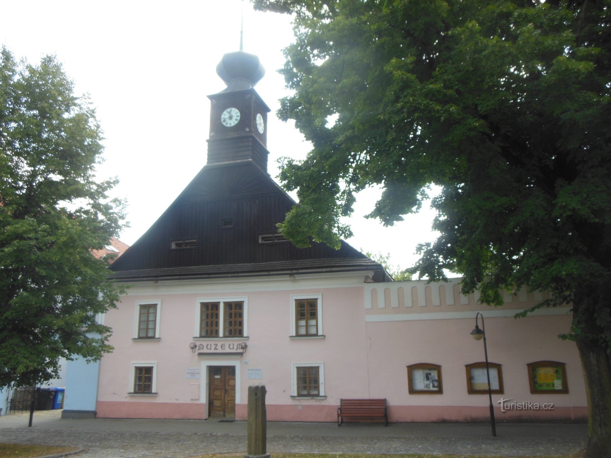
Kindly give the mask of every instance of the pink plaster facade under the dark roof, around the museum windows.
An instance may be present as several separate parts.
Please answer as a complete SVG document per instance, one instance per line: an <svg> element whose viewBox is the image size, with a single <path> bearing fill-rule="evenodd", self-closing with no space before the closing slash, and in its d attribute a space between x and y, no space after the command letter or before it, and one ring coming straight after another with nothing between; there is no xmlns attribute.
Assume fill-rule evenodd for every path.
<svg viewBox="0 0 611 458"><path fill-rule="evenodd" d="M291 340L291 294L322 294L323 339ZM263 383L268 394L267 402L273 405L295 406L295 419L327 418L328 413L316 416L312 412L334 412L340 398L367 396L365 377L346 377L346 367L357 374L367 373L365 358L365 320L363 288L294 289L288 291L255 291L235 294L166 294L152 296L124 296L116 310L106 314L104 324L113 329L109 343L114 346L111 354L104 355L100 365L98 387L98 416L123 417L130 415L125 404L177 403L202 406L204 399L191 400L191 384L205 382L187 379L186 368L199 368L202 360L240 361L241 405L236 407L236 417L246 418L247 387ZM249 338L246 353L235 356L198 356L189 349L193 341L196 322L197 299L205 297L248 297ZM136 301L161 300L158 341L134 341ZM329 332L327 332L327 330ZM198 343L205 341L197 341ZM247 361L248 365L243 362ZM157 396L127 394L130 387L132 362L157 362ZM290 398L293 363L324 362L326 399ZM262 380L248 380L247 369L262 369ZM110 403L110 404L108 404ZM116 404L119 403L119 404ZM297 405L302 409L298 410ZM327 406L327 407L324 407ZM329 406L331 406L329 408ZM205 412L205 408L203 409ZM242 412L243 410L243 412ZM194 412L189 410L189 412ZM197 410L199 412L199 410ZM135 415L135 414L134 414ZM137 415L144 415L138 413ZM200 418L199 413L185 418ZM148 418L142 417L142 418ZM170 418L170 417L167 417ZM173 417L171 417L173 418ZM273 417L276 418L276 417ZM280 420L280 417L277 418Z"/></svg>

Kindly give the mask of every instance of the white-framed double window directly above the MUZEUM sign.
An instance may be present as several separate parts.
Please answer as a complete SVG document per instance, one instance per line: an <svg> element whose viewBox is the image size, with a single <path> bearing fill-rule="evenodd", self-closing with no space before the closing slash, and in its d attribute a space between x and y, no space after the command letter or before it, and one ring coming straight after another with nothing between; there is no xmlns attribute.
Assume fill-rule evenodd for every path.
<svg viewBox="0 0 611 458"><path fill-rule="evenodd" d="M247 297L197 300L197 338L246 338Z"/></svg>

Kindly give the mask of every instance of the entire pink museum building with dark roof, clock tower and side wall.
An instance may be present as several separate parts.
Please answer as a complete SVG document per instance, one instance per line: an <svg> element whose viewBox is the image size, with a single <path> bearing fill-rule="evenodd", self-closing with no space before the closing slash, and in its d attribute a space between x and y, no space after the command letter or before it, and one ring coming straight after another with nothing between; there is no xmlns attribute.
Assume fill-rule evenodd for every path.
<svg viewBox="0 0 611 458"><path fill-rule="evenodd" d="M271 421L336 421L355 398L385 398L389 421L487 420L477 311L497 421L586 417L576 346L557 338L568 307L514 319L544 294L491 308L459 279L392 282L344 242L298 249L277 233L295 202L266 172L265 72L242 51L217 71L207 165L111 266L132 286L104 318L98 417L244 420L247 387L263 383Z"/></svg>

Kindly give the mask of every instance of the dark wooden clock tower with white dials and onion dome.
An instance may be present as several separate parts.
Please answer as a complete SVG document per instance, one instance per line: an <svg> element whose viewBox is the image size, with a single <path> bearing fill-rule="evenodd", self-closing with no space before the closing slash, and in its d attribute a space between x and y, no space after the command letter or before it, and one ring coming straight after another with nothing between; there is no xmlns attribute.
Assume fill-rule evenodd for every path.
<svg viewBox="0 0 611 458"><path fill-rule="evenodd" d="M265 75L265 68L254 54L236 51L222 57L216 73L227 87L208 96L211 109L207 164L252 161L267 172L270 110L254 89Z"/></svg>

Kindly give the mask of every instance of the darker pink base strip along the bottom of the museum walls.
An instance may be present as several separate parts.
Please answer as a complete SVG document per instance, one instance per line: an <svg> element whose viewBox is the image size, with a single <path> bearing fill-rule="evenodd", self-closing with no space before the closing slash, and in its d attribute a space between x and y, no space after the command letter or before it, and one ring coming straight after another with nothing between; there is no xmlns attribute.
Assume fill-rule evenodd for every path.
<svg viewBox="0 0 611 458"><path fill-rule="evenodd" d="M338 405L268 404L268 421L337 421ZM301 407L301 409L299 409ZM204 420L206 405L185 402L98 401L98 418L173 418ZM246 420L246 404L236 404L236 420ZM555 407L554 410L494 409L496 421L587 421L587 407ZM459 405L389 405L388 420L396 423L486 422L488 407Z"/></svg>

